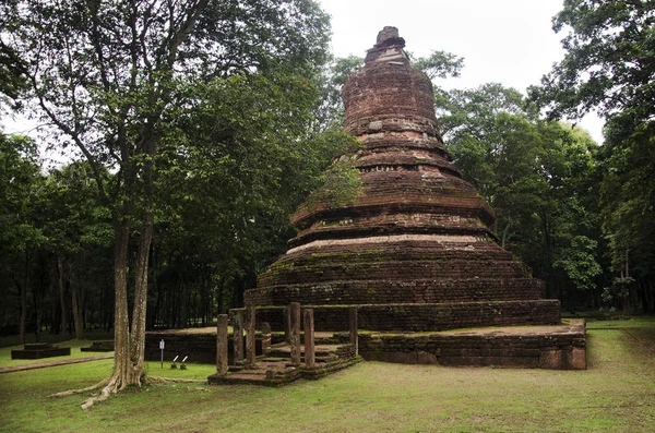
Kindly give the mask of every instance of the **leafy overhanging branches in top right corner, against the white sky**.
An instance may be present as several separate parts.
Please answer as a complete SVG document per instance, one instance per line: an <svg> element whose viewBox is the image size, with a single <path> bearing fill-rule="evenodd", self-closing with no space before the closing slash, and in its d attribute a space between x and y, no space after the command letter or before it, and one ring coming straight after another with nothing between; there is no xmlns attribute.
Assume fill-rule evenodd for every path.
<svg viewBox="0 0 655 433"><path fill-rule="evenodd" d="M553 29L569 29L564 59L532 88L553 117L579 119L597 108L610 137L626 137L655 115L653 1L567 0Z"/></svg>

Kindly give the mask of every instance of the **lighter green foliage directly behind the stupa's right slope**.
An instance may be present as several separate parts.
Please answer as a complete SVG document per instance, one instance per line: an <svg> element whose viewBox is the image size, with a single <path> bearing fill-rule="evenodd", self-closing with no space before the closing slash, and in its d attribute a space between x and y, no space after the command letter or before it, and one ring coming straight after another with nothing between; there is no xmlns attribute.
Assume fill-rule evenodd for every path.
<svg viewBox="0 0 655 433"><path fill-rule="evenodd" d="M533 267L552 297L595 288L595 143L539 120L519 92L499 84L439 92L436 100L455 165L497 213L501 245Z"/></svg>

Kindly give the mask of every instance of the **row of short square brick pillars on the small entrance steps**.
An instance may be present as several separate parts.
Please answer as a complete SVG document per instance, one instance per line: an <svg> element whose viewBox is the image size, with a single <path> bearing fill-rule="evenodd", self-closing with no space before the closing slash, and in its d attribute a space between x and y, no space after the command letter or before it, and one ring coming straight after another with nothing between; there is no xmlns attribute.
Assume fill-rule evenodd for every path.
<svg viewBox="0 0 655 433"><path fill-rule="evenodd" d="M243 330L246 330L246 364L255 364L255 309L248 306L246 311L233 311L234 327L234 360L235 364L243 362ZM315 365L315 345L314 345L314 317L312 309L302 310L302 322L305 329L305 365L312 368ZM216 373L226 375L228 371L228 339L227 339L227 314L219 314L216 329ZM353 306L348 311L348 327L350 344L355 346L355 353L358 350L357 334L357 308ZM262 323L262 352L266 354L271 348L271 326ZM291 364L300 365L300 304L291 302L285 309L285 337L291 348Z"/></svg>

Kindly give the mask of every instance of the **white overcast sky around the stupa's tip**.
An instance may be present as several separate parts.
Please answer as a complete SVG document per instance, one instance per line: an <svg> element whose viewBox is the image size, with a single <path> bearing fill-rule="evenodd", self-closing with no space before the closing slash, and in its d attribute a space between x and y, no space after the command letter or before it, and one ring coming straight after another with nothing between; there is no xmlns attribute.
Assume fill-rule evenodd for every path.
<svg viewBox="0 0 655 433"><path fill-rule="evenodd" d="M319 0L332 16L336 57L364 57L385 25L398 28L405 49L415 56L444 50L464 58L458 79L446 88L502 83L525 93L539 84L563 57L564 33L551 28L562 0ZM603 122L595 116L581 127L602 142Z"/></svg>

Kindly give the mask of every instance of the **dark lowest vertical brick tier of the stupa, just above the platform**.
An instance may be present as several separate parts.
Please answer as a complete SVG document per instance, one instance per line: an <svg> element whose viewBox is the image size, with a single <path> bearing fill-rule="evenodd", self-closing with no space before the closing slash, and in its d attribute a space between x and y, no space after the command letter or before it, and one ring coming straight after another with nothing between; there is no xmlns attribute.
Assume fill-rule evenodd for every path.
<svg viewBox="0 0 655 433"><path fill-rule="evenodd" d="M315 330L348 329L353 305L303 305L314 311ZM370 330L445 330L480 326L551 325L560 321L557 300L451 302L437 304L367 304L358 306L358 326ZM284 330L283 306L257 309L257 321Z"/></svg>

